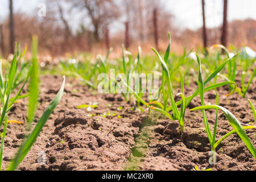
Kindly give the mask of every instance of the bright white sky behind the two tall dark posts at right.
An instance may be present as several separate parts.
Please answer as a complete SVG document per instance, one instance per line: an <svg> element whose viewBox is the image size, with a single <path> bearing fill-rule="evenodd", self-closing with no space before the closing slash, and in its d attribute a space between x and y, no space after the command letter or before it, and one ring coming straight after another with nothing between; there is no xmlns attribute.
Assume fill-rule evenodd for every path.
<svg viewBox="0 0 256 182"><path fill-rule="evenodd" d="M201 0L168 1L168 9L175 15L176 25L191 29L203 25ZM256 19L255 0L228 0L228 21L234 19ZM205 0L207 27L216 27L223 21L223 0Z"/></svg>

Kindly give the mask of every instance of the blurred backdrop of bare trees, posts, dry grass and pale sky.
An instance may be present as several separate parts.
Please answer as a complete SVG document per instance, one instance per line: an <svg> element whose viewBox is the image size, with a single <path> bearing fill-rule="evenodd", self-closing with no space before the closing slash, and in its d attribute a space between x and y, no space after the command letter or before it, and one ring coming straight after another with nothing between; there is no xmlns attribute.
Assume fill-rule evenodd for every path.
<svg viewBox="0 0 256 182"><path fill-rule="evenodd" d="M255 0L0 0L0 54L14 43L30 48L38 35L43 56L103 53L121 45L130 51L160 51L172 36L172 51L224 44L256 49Z"/></svg>

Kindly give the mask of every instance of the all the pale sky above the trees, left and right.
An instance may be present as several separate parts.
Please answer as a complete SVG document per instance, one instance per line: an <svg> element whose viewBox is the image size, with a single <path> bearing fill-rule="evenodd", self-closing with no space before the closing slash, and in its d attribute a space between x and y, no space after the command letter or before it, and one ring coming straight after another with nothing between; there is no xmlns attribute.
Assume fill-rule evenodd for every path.
<svg viewBox="0 0 256 182"><path fill-rule="evenodd" d="M35 13L39 3L44 0L13 0L14 12ZM162 0L163 1L163 0ZM196 30L203 24L201 0L166 0L167 9L175 17L175 26ZM256 19L256 0L229 0L228 20ZM222 23L223 0L205 0L207 27L216 27ZM0 22L9 13L9 0L0 0ZM78 23L75 21L72 21Z"/></svg>

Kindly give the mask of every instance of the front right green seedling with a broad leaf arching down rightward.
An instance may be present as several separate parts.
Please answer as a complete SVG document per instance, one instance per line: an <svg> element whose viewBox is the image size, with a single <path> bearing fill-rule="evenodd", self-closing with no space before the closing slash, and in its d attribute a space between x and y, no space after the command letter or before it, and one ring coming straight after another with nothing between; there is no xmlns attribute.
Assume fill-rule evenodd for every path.
<svg viewBox="0 0 256 182"><path fill-rule="evenodd" d="M238 119L236 117L234 117L234 115L229 110L225 109L222 106L218 106L218 93L216 94L216 105L205 105L204 104L204 81L203 81L203 73L201 71L201 60L198 55L196 55L196 56L197 56L197 63L199 64L199 90L200 90L201 106L195 107L195 108L191 109L191 111L202 110L204 126L205 126L205 130L207 132L207 136L208 136L208 139L210 142L211 151L214 154L214 158L216 158L215 151L216 151L216 147L218 146L218 144L220 144L222 142L222 140L229 137L231 134L237 133L240 136L240 138L243 140L243 142L246 144L246 147L249 149L251 154L256 159L256 150L255 150L253 144L251 144L250 139L247 137L247 135L245 133L246 129L255 129L256 126L242 127L240 122L238 121ZM211 133L211 131L210 131L207 115L205 113L205 110L207 110L207 109L215 109L216 110L216 120L214 123L213 133ZM226 118L228 119L230 125L233 127L234 130L230 131L224 137L222 137L220 140L218 140L216 142L215 139L216 139L216 131L217 131L217 121L218 121L217 110L218 109L223 111L223 113L226 115Z"/></svg>

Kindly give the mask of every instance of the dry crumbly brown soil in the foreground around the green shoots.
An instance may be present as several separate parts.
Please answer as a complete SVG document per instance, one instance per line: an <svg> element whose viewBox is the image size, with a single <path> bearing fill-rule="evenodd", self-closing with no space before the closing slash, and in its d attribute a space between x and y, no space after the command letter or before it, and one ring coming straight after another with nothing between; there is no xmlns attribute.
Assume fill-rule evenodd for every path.
<svg viewBox="0 0 256 182"><path fill-rule="evenodd" d="M60 76L41 76L40 105L35 122L55 97L61 85ZM189 96L197 88L195 83L185 88ZM26 93L26 88L24 89ZM229 86L218 89L220 105L230 110L237 119L250 125L253 113L245 98L229 93ZM256 104L256 83L250 86L247 97ZM206 102L215 103L213 91L205 93ZM76 109L82 104L98 102L98 107ZM217 164L208 163L210 145L204 130L201 111L189 111L200 105L197 96L189 104L182 135L179 123L164 119L148 110L133 110L119 94L97 94L75 78L67 78L65 93L51 114L30 152L20 163L19 170L256 170L256 163L237 134L225 139L217 147ZM121 107L120 107L121 106ZM9 113L9 120L26 122L27 100L16 103ZM92 115L93 114L93 115ZM95 114L95 115L94 115ZM215 110L207 111L213 129ZM225 115L219 111L217 139L232 130ZM2 132L2 130L0 131ZM9 124L5 138L3 168L5 169L18 150L26 123ZM256 147L255 130L246 134ZM46 164L39 163L46 155ZM41 159L42 162L42 159Z"/></svg>

